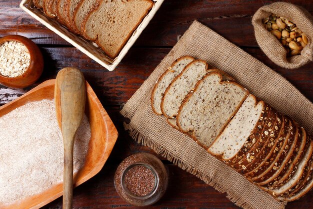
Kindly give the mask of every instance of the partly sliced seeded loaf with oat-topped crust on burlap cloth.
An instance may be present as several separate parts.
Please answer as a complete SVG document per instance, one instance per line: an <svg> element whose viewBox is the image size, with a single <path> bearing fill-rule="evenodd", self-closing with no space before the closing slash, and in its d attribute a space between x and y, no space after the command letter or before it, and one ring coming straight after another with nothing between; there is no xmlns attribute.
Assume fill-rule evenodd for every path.
<svg viewBox="0 0 313 209"><path fill-rule="evenodd" d="M280 201L313 187L313 142L306 131L205 61L175 60L156 82L151 108Z"/></svg>

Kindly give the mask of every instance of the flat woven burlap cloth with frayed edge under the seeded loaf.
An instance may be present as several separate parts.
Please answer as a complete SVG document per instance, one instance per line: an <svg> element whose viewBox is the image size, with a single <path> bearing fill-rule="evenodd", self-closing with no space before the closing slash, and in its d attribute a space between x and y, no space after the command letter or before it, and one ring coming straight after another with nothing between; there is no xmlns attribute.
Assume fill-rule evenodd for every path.
<svg viewBox="0 0 313 209"><path fill-rule="evenodd" d="M309 100L279 74L196 21L121 110L121 114L130 119L129 124L124 124L125 129L137 142L151 147L218 191L227 192L227 197L244 209L284 208L285 203L276 201L169 126L163 116L152 112L153 85L160 74L183 55L203 59L212 67L226 71L251 93L312 132L313 104Z"/></svg>

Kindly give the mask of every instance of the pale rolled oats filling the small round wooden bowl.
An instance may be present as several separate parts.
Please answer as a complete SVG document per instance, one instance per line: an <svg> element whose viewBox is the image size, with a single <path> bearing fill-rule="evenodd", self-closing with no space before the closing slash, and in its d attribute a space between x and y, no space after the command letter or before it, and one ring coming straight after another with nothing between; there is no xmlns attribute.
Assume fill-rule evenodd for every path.
<svg viewBox="0 0 313 209"><path fill-rule="evenodd" d="M30 54L25 45L16 41L0 45L0 74L17 77L25 73L30 64Z"/></svg>

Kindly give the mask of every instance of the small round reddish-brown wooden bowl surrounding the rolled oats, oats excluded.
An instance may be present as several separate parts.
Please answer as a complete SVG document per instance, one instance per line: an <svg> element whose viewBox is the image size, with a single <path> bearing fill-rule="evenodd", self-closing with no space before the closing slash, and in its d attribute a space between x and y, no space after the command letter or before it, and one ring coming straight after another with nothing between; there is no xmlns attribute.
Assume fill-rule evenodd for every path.
<svg viewBox="0 0 313 209"><path fill-rule="evenodd" d="M9 88L21 89L30 86L36 82L42 74L43 70L43 57L35 43L30 39L19 35L9 35L0 38L0 45L4 42L16 41L20 42L28 49L30 54L30 64L20 76L9 78L0 75L0 84Z"/></svg>

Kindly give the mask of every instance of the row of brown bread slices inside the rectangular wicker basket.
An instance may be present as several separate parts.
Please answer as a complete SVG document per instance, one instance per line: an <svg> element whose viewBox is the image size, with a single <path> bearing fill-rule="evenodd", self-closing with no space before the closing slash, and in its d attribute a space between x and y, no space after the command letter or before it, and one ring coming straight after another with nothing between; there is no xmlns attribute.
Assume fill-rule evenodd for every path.
<svg viewBox="0 0 313 209"><path fill-rule="evenodd" d="M114 59L153 6L151 0L33 0L70 32L95 42Z"/></svg>

